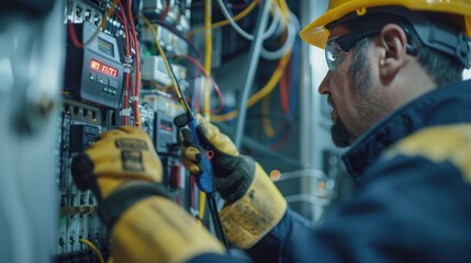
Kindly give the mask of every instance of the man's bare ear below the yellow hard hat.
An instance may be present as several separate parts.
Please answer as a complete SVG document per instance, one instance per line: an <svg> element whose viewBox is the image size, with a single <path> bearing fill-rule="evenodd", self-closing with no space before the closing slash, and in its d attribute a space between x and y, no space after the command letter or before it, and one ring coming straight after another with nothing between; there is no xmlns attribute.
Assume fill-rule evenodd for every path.
<svg viewBox="0 0 471 263"><path fill-rule="evenodd" d="M386 24L381 30L378 45L381 50L378 61L380 79L381 82L388 83L395 78L406 61L407 36L400 25Z"/></svg>

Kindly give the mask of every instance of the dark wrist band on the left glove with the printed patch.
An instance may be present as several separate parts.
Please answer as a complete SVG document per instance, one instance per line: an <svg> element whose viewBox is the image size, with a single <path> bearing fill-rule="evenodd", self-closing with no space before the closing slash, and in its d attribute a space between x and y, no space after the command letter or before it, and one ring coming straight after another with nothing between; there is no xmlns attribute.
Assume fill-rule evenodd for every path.
<svg viewBox="0 0 471 263"><path fill-rule="evenodd" d="M170 198L161 184L128 181L100 203L100 218L109 228L112 228L127 208L146 197L156 195Z"/></svg>

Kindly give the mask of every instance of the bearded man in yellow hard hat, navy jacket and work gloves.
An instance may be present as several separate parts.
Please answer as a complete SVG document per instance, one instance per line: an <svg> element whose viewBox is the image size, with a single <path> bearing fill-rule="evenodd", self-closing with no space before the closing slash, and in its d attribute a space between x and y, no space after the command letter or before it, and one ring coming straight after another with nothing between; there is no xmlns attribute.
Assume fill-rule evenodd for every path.
<svg viewBox="0 0 471 263"><path fill-rule="evenodd" d="M333 106L334 142L351 145L344 161L360 190L314 228L200 118L231 243L257 262L471 262L470 35L468 0L332 1L301 37L326 50L318 90ZM188 130L181 138L184 164L198 173L202 150ZM72 163L78 185L101 196L114 260L236 262L155 186L150 145L124 127Z"/></svg>

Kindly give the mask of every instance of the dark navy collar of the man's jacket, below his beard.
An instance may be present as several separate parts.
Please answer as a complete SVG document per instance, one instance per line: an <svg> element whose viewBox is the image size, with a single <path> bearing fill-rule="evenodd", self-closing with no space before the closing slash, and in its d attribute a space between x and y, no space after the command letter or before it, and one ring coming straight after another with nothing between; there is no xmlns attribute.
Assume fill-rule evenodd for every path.
<svg viewBox="0 0 471 263"><path fill-rule="evenodd" d="M360 137L343 160L359 180L395 141L427 126L466 122L471 122L471 80L437 88L393 112Z"/></svg>

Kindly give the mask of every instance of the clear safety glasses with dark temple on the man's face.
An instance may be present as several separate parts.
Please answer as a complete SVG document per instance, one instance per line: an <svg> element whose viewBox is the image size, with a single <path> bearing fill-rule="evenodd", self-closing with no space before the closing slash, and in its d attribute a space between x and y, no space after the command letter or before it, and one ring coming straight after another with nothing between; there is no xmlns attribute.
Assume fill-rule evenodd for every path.
<svg viewBox="0 0 471 263"><path fill-rule="evenodd" d="M329 70L335 70L348 50L360 39L378 35L381 28L369 28L354 31L344 35L333 37L325 45L325 60Z"/></svg>

